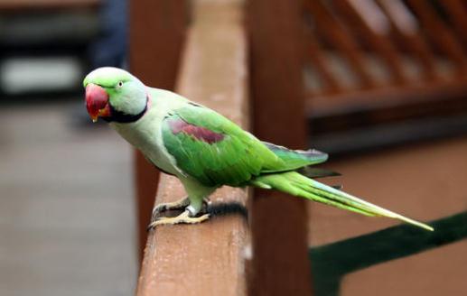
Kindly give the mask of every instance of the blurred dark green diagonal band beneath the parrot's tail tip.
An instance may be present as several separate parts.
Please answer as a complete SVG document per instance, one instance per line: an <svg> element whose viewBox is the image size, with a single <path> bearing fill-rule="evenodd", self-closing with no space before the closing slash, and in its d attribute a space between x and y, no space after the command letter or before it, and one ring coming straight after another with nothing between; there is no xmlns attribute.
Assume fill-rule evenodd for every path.
<svg viewBox="0 0 467 296"><path fill-rule="evenodd" d="M417 254L467 237L467 212L429 223L434 232L400 225L309 250L315 295L339 295L341 279L371 265Z"/></svg>

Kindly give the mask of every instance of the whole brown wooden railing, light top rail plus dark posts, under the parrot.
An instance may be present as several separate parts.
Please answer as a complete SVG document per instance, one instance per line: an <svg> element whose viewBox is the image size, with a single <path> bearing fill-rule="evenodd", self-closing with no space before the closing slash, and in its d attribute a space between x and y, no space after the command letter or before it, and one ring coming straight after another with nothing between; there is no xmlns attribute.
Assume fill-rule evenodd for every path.
<svg viewBox="0 0 467 296"><path fill-rule="evenodd" d="M167 10L173 3L180 5L181 2L161 3L162 7L158 8ZM154 4L133 2L137 6L133 15L140 13L140 17L135 15L133 23L141 23L132 30L145 27L142 16L148 10L156 11L151 5ZM268 141L303 148L306 125L300 1L255 0L249 1L248 6L239 0L192 1L190 9L175 91L210 106L247 129L251 105L256 134ZM159 17L167 20L174 17L173 12L169 9L169 16L161 13ZM167 23L163 25L170 28ZM154 32L160 32L157 30L161 29ZM172 42L173 50L178 50L179 40L168 40L169 31L161 33L163 41ZM250 32L248 42L247 32ZM135 32L135 38L139 33ZM157 42L162 42L161 36ZM151 59L151 48L161 49L141 37L139 42L132 42L136 48L132 68L140 76L157 80L154 72L158 64L172 62L173 66L175 63L147 60ZM162 55L156 56L163 59ZM168 56L175 60L174 55ZM248 99L250 94L254 104ZM137 155L137 184L145 187L139 189L137 199L143 240L142 229L152 208L148 202L154 200L150 195L155 177ZM153 183L148 184L151 180ZM184 194L178 180L161 174L156 203L180 199ZM248 195L248 190L222 188L213 195L212 208L224 205L230 208L227 212L220 210L216 215L214 211L214 217L201 225L157 227L149 232L137 294L279 295L294 291L294 295L310 295L304 201L256 191L248 206L250 234L245 215ZM216 217L222 214L230 215ZM254 259L250 261L250 258Z"/></svg>

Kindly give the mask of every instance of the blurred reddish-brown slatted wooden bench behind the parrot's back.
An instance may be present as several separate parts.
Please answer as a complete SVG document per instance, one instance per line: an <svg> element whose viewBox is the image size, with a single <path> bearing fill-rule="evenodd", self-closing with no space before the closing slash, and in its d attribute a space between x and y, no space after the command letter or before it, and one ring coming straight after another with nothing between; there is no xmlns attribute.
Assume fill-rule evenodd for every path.
<svg viewBox="0 0 467 296"><path fill-rule="evenodd" d="M466 6L305 1L313 143L336 154L467 131Z"/></svg>

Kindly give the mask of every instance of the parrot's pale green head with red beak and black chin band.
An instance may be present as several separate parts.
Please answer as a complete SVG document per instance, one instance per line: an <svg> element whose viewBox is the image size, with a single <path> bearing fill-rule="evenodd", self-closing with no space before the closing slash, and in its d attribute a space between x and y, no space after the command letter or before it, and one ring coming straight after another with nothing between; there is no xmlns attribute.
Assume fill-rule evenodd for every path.
<svg viewBox="0 0 467 296"><path fill-rule="evenodd" d="M95 69L86 76L83 86L86 108L93 122L98 117L108 122L132 122L147 108L145 85L124 69Z"/></svg>

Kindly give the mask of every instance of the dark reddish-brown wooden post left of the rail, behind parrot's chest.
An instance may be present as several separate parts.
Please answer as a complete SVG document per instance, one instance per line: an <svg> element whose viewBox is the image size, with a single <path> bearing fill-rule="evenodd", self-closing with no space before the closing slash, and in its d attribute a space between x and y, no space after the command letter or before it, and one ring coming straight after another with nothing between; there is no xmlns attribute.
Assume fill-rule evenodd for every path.
<svg viewBox="0 0 467 296"><path fill-rule="evenodd" d="M184 0L130 1L130 69L146 85L173 89L187 23ZM135 152L139 255L147 238L158 171Z"/></svg>

